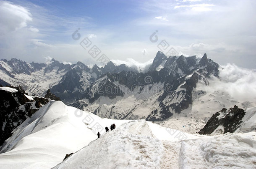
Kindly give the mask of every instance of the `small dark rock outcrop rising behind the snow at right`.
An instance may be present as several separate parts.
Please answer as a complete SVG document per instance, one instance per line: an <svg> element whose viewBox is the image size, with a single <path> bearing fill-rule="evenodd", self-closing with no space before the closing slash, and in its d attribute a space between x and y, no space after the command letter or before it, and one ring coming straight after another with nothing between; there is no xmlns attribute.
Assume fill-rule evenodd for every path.
<svg viewBox="0 0 256 169"><path fill-rule="evenodd" d="M224 130L218 132L222 134L233 133L240 127L245 114L246 111L236 105L229 109L223 108L209 119L204 128L199 131L199 134L212 134L219 126L223 126Z"/></svg>

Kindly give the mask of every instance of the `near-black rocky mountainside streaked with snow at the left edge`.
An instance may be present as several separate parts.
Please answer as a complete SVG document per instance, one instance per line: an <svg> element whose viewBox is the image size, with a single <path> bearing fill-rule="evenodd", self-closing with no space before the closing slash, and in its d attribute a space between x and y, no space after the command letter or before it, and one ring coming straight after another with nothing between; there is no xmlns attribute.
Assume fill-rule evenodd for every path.
<svg viewBox="0 0 256 169"><path fill-rule="evenodd" d="M15 88L18 90L16 93L0 90L0 146L17 126L48 102L38 97L31 101L21 88Z"/></svg>

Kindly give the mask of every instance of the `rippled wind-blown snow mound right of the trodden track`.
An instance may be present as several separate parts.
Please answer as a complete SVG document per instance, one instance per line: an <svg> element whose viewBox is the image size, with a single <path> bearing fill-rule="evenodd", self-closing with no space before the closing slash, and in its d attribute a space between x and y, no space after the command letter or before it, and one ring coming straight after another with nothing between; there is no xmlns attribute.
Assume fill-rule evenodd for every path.
<svg viewBox="0 0 256 169"><path fill-rule="evenodd" d="M181 143L181 169L252 169L256 168L256 141L251 136L225 134L211 139Z"/></svg>

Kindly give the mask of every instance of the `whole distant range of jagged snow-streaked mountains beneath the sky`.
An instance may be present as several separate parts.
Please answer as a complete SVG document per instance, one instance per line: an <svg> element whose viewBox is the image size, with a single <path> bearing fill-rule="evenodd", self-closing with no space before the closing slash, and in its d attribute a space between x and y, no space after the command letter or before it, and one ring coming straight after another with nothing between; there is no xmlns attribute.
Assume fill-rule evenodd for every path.
<svg viewBox="0 0 256 169"><path fill-rule="evenodd" d="M64 103L105 118L146 119L168 126L170 117L173 122L189 116L198 121L196 131L222 108L256 106L254 100L235 98L225 89L204 90L219 81L222 70L206 54L167 57L160 51L143 72L111 61L98 67L81 62L64 65L54 59L47 63L2 59L0 82L21 85L39 96L50 88ZM182 126L186 123L182 121Z"/></svg>

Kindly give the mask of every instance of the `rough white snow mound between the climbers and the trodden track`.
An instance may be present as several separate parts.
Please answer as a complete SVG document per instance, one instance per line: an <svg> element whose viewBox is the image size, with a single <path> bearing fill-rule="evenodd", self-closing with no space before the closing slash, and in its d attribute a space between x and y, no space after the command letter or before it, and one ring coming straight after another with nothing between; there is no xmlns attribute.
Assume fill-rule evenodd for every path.
<svg viewBox="0 0 256 169"><path fill-rule="evenodd" d="M90 154L90 155L89 155ZM104 134L54 169L160 168L164 147L146 121L131 121Z"/></svg>

